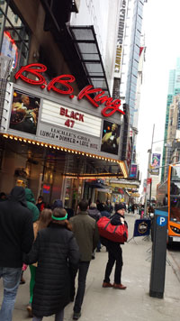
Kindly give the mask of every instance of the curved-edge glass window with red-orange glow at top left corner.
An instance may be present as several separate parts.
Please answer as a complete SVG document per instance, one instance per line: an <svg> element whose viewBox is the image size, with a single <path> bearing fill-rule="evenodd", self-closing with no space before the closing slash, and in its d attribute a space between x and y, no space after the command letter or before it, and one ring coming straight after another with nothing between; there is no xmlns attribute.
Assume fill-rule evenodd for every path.
<svg viewBox="0 0 180 321"><path fill-rule="evenodd" d="M1 55L13 58L15 73L20 66L27 64L30 36L20 16L6 2L1 5L0 13L3 14L0 19L0 52Z"/></svg>

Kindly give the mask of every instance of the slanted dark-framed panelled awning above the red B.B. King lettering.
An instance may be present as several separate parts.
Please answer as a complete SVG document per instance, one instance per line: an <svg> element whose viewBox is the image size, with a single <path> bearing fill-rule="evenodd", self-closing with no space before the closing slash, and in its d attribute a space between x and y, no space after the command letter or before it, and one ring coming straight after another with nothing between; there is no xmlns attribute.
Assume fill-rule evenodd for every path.
<svg viewBox="0 0 180 321"><path fill-rule="evenodd" d="M95 88L101 87L105 91L105 94L110 96L94 26L70 26L69 32L76 45L76 50L89 82Z"/></svg>

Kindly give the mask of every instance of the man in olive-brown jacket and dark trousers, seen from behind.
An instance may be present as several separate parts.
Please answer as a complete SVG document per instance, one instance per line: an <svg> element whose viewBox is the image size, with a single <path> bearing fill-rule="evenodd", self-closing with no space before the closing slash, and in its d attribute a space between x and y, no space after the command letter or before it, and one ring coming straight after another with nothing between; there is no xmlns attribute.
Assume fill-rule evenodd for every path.
<svg viewBox="0 0 180 321"><path fill-rule="evenodd" d="M78 266L78 289L76 292L73 319L77 320L81 316L81 307L85 296L85 280L92 253L99 241L99 232L94 218L88 216L88 202L81 200L78 204L78 213L71 217L69 222L73 226L76 242L79 246L81 258ZM77 272L76 271L76 272ZM75 278L72 276L71 300L75 296Z"/></svg>

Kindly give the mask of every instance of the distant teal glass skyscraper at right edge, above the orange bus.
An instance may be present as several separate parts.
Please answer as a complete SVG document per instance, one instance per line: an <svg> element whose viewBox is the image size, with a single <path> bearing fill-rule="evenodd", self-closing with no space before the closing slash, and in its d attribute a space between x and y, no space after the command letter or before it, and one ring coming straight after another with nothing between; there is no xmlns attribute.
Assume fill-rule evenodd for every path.
<svg viewBox="0 0 180 321"><path fill-rule="evenodd" d="M166 98L166 123L163 144L161 181L167 176L167 167L171 157L171 140L167 140L167 129L169 124L169 108L173 103L173 97L180 93L180 57L176 60L175 69L169 71L168 93Z"/></svg>

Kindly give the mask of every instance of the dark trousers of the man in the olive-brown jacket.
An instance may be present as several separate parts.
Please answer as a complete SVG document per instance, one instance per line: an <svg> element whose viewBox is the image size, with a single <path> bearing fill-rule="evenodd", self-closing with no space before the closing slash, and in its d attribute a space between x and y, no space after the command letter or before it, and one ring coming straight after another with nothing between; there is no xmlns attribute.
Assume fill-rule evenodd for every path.
<svg viewBox="0 0 180 321"><path fill-rule="evenodd" d="M83 299L85 296L85 281L86 275L89 269L90 261L80 261L78 267L78 288L76 292L74 312L79 313L81 311L81 306L83 304ZM77 272L76 271L76 272ZM75 282L75 279L74 279ZM75 291L75 283L74 283L74 291Z"/></svg>

